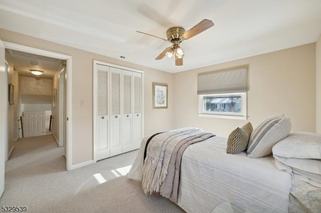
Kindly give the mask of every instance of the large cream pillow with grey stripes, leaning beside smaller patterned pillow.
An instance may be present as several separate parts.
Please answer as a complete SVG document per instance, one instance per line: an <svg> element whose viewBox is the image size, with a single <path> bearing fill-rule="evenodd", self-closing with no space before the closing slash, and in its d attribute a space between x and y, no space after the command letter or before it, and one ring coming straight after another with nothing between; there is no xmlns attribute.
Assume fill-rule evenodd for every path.
<svg viewBox="0 0 321 213"><path fill-rule="evenodd" d="M267 118L254 128L247 145L247 156L264 157L271 154L272 146L286 137L290 129L290 118L284 114Z"/></svg>

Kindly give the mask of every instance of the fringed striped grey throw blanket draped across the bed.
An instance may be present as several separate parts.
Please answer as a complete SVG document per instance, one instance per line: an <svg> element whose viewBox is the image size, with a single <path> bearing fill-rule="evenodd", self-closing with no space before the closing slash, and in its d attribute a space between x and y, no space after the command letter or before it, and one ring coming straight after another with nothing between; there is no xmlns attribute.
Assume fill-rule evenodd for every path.
<svg viewBox="0 0 321 213"><path fill-rule="evenodd" d="M159 192L164 181L167 179L168 172L175 172L175 164L181 158L177 157L177 152L183 154L187 144L205 140L214 134L203 131L199 128L179 128L154 134L146 143L146 157L144 159L142 188L145 194ZM182 148L184 150L182 150ZM173 159L171 159L173 157ZM180 162L179 162L180 164ZM174 174L170 175L174 179ZM176 175L177 176L177 175ZM173 184L173 181L167 181ZM172 186L166 186L166 194L172 194ZM178 187L178 183L177 183ZM170 189L169 189L170 188ZM177 190L177 189L175 189ZM162 192L164 186L162 187ZM177 192L176 192L177 193ZM166 196L169 197L169 196Z"/></svg>

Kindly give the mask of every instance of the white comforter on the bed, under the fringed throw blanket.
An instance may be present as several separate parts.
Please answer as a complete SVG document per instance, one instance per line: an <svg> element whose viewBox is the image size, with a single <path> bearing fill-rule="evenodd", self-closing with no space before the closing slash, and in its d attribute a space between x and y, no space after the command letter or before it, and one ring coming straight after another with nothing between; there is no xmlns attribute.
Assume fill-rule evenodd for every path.
<svg viewBox="0 0 321 213"><path fill-rule="evenodd" d="M144 138L128 178L141 180ZM186 148L181 162L178 204L187 212L211 212L230 201L254 212L287 212L290 174L272 156L226 153L226 138L214 136Z"/></svg>

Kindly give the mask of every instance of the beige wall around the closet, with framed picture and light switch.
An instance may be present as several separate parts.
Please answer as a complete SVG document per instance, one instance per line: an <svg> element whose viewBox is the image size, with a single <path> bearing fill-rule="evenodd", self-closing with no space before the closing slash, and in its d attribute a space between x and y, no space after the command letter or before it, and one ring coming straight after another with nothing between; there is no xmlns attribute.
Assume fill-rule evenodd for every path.
<svg viewBox="0 0 321 213"><path fill-rule="evenodd" d="M93 159L93 60L144 72L144 135L173 128L173 74L0 29L0 39L72 56L72 164ZM152 81L169 84L169 108L152 109ZM80 107L80 100L85 100Z"/></svg>

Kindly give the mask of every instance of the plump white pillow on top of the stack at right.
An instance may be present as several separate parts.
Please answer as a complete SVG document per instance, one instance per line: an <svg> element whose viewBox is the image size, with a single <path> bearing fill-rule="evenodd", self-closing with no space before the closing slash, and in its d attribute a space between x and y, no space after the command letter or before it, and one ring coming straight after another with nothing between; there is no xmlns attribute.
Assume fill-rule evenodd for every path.
<svg viewBox="0 0 321 213"><path fill-rule="evenodd" d="M290 132L273 146L272 152L281 157L321 159L321 134Z"/></svg>

